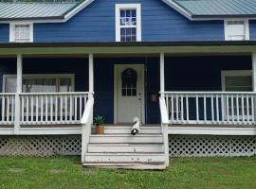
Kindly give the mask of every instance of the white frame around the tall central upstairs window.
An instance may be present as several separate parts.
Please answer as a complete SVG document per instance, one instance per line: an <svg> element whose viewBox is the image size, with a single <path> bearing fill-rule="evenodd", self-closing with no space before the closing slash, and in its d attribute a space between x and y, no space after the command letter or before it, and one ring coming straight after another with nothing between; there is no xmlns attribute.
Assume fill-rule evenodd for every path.
<svg viewBox="0 0 256 189"><path fill-rule="evenodd" d="M116 42L120 42L120 10L136 9L137 11L137 42L141 42L141 5L140 4L116 4Z"/></svg>

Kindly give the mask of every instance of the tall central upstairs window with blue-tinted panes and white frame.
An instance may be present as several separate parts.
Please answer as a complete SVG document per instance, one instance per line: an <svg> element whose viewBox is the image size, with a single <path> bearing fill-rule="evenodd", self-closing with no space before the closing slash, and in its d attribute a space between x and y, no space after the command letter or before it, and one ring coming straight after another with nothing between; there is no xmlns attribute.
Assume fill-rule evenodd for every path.
<svg viewBox="0 0 256 189"><path fill-rule="evenodd" d="M140 4L116 5L116 41L141 41L141 8Z"/></svg>

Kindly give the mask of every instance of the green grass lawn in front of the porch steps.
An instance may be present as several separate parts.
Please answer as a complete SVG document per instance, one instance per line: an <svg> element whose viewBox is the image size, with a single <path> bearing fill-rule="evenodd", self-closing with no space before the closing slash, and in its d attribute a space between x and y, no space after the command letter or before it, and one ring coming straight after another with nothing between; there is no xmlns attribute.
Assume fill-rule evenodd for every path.
<svg viewBox="0 0 256 189"><path fill-rule="evenodd" d="M0 188L256 188L256 157L173 159L165 171L84 168L79 157L0 158Z"/></svg>

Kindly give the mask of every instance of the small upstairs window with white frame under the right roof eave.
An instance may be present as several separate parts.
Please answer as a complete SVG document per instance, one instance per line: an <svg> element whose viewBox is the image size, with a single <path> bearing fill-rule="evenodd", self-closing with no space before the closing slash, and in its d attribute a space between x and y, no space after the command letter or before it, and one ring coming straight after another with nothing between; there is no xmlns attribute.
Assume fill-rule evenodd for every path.
<svg viewBox="0 0 256 189"><path fill-rule="evenodd" d="M225 21L225 40L244 41L249 40L249 29L247 20Z"/></svg>

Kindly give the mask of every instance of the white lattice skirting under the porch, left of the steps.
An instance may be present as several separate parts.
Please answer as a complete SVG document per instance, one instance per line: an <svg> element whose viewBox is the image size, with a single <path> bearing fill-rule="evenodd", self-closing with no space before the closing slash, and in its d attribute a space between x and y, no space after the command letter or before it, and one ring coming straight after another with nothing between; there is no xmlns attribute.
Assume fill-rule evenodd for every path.
<svg viewBox="0 0 256 189"><path fill-rule="evenodd" d="M81 135L0 136L0 156L80 155Z"/></svg>

